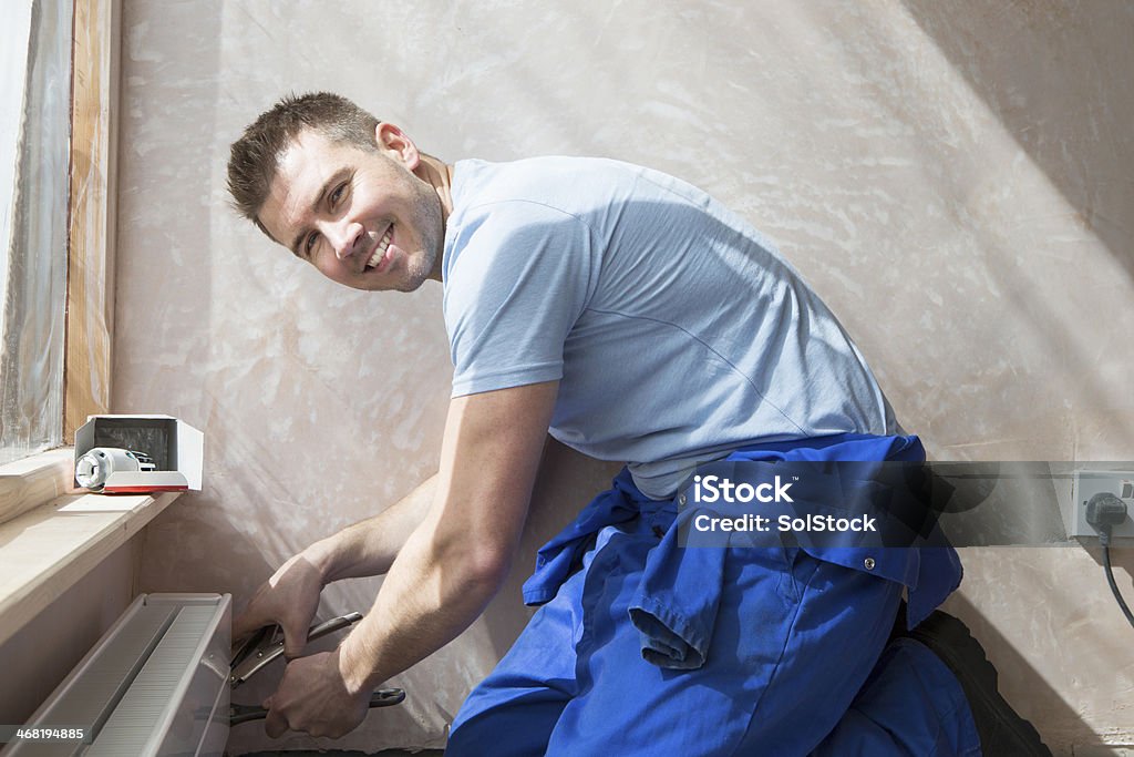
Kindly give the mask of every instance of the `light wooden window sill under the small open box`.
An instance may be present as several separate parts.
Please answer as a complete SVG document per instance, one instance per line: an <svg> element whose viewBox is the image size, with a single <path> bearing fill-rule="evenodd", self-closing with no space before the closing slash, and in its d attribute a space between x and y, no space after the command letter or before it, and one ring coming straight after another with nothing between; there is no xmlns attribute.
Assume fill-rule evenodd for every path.
<svg viewBox="0 0 1134 757"><path fill-rule="evenodd" d="M17 503L24 511L0 523L0 644L180 496L58 496L54 487L60 478L66 485L70 460L69 449L53 449L0 469L0 516L7 511L11 518ZM22 464L23 477L14 472ZM36 495L46 496L36 502Z"/></svg>

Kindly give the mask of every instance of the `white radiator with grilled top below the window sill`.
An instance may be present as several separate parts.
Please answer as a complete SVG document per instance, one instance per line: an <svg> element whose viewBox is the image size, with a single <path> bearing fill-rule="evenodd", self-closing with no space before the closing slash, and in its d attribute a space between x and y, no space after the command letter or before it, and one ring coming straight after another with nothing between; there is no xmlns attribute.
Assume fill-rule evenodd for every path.
<svg viewBox="0 0 1134 757"><path fill-rule="evenodd" d="M231 596L142 595L27 727L83 727L90 743L18 741L2 757L221 757L229 729Z"/></svg>

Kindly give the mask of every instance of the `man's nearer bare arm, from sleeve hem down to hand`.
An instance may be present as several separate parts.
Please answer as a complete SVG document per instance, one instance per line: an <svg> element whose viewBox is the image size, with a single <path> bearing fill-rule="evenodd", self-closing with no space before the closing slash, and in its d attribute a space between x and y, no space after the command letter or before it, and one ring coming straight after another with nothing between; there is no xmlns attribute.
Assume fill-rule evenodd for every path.
<svg viewBox="0 0 1134 757"><path fill-rule="evenodd" d="M507 575L558 381L451 401L437 493L373 608L333 653L293 661L265 703L269 735L341 735L371 691L466 629Z"/></svg>

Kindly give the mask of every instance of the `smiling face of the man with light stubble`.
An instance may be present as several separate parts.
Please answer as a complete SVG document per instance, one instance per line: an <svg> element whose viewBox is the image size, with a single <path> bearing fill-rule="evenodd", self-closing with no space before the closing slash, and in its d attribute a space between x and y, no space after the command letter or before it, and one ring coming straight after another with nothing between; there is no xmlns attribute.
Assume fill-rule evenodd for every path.
<svg viewBox="0 0 1134 757"><path fill-rule="evenodd" d="M441 202L412 173L416 148L390 128L379 127L374 151L303 132L280 159L257 217L332 281L413 292L440 264Z"/></svg>

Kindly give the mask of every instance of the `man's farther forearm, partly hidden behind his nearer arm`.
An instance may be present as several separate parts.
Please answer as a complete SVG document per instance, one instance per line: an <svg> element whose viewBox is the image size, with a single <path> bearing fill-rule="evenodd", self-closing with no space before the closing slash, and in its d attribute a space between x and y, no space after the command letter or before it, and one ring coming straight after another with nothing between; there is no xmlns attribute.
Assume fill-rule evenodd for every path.
<svg viewBox="0 0 1134 757"><path fill-rule="evenodd" d="M322 573L324 584L381 575L390 570L409 535L425 520L435 490L434 474L378 515L312 544L303 555Z"/></svg>

